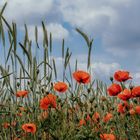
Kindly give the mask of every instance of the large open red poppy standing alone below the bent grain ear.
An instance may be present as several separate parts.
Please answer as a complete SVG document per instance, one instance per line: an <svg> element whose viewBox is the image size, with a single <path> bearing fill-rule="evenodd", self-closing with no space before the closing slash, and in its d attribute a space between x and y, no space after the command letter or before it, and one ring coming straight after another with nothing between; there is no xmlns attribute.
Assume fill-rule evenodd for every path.
<svg viewBox="0 0 140 140"><path fill-rule="evenodd" d="M74 72L73 77L78 83L83 83L83 84L88 84L91 78L89 73L81 70Z"/></svg>

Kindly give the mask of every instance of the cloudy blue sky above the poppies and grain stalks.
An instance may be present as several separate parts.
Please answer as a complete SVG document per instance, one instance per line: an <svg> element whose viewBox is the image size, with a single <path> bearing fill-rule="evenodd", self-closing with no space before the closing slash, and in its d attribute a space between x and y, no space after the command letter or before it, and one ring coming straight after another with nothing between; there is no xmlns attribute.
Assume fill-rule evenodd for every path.
<svg viewBox="0 0 140 140"><path fill-rule="evenodd" d="M53 35L53 51L60 69L62 38L78 59L79 69L86 69L87 47L75 31L80 28L94 38L92 50L93 76L104 81L116 70L127 70L135 84L140 84L140 1L139 0L7 0L4 12L9 22L16 22L22 34L24 23L34 40L38 26L40 42L43 37L41 21ZM0 7L6 0L0 1Z"/></svg>

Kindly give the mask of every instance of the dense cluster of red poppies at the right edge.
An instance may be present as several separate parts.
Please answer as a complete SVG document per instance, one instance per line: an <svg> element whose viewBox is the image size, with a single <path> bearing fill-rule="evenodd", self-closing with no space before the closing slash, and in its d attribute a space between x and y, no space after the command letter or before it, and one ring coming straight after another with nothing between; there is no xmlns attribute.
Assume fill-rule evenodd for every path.
<svg viewBox="0 0 140 140"><path fill-rule="evenodd" d="M140 86L126 88L123 82L127 81L128 79L132 79L130 77L128 71L117 71L114 74L114 79L119 83L112 83L107 89L108 94L110 96L117 96L119 99L123 101L123 103L118 104L118 112L125 113L126 110L129 110L129 113L132 114L140 114L140 106L137 105L135 108L133 105L129 105L127 101L129 99L133 99L135 97L140 97Z"/></svg>

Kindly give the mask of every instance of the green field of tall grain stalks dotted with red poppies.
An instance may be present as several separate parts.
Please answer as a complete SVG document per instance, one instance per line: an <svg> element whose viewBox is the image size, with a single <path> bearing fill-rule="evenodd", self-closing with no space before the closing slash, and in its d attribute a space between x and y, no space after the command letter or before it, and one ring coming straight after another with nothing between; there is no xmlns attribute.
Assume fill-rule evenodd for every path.
<svg viewBox="0 0 140 140"><path fill-rule="evenodd" d="M59 79L44 22L41 44L38 28L32 42L26 24L18 39L16 23L3 16L5 7L0 12L0 140L140 140L140 86L133 85L128 71L116 71L110 85L94 79L93 39L77 28L87 44L87 70L76 60L71 68L72 52L62 39Z"/></svg>

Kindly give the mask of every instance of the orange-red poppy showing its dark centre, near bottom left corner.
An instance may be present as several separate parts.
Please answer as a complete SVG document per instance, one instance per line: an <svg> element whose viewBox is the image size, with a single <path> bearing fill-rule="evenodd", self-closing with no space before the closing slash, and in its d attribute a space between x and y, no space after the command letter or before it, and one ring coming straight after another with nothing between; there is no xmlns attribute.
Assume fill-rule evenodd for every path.
<svg viewBox="0 0 140 140"><path fill-rule="evenodd" d="M34 123L26 123L22 125L22 129L27 133L34 134L36 132L36 125Z"/></svg>

